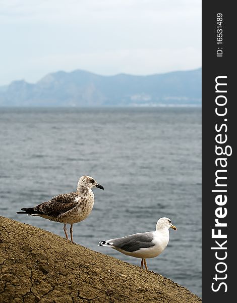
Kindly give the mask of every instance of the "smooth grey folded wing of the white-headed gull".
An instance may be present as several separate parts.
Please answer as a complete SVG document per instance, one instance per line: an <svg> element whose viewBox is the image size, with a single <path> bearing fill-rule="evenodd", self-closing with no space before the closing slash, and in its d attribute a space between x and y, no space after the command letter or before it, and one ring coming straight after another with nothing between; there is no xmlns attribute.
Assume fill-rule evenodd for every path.
<svg viewBox="0 0 237 303"><path fill-rule="evenodd" d="M123 238L111 239L109 241L113 243L112 246L130 252L155 245L151 232L137 233Z"/></svg>

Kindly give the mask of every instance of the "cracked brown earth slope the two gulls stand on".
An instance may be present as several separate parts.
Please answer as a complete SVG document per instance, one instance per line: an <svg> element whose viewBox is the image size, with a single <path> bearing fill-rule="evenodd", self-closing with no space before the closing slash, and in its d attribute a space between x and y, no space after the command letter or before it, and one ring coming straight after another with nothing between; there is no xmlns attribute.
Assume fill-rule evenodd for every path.
<svg viewBox="0 0 237 303"><path fill-rule="evenodd" d="M187 288L0 216L0 302L197 303Z"/></svg>

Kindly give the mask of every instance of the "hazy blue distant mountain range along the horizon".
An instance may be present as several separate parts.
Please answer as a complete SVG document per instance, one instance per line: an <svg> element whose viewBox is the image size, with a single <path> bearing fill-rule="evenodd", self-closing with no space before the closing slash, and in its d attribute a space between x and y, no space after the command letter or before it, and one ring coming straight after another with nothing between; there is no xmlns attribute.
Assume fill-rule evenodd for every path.
<svg viewBox="0 0 237 303"><path fill-rule="evenodd" d="M0 106L201 106L201 80L201 68L148 76L59 71L35 84L20 80L0 86Z"/></svg>

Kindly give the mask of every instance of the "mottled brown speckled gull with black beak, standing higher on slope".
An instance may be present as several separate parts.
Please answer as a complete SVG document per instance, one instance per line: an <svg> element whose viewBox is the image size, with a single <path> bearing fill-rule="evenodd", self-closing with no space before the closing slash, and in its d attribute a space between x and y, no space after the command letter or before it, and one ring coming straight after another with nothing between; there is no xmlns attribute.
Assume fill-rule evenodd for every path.
<svg viewBox="0 0 237 303"><path fill-rule="evenodd" d="M82 176L78 181L77 191L58 194L35 207L22 208L23 212L17 212L17 214L40 216L44 219L64 223L64 232L68 240L67 223L69 223L71 224L70 235L73 242L73 224L86 219L94 206L93 187L104 189L92 177Z"/></svg>

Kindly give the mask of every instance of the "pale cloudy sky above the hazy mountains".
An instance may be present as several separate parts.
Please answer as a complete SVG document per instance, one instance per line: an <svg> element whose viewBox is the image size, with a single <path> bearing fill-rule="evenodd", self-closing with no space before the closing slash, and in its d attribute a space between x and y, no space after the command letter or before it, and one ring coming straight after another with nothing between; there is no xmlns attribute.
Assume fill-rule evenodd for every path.
<svg viewBox="0 0 237 303"><path fill-rule="evenodd" d="M0 0L0 85L201 67L201 0Z"/></svg>

